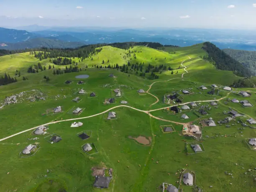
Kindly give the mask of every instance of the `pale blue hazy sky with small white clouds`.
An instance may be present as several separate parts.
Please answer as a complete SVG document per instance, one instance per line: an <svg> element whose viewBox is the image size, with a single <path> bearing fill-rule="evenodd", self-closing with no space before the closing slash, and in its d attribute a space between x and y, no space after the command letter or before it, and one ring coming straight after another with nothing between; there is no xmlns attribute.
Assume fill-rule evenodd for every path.
<svg viewBox="0 0 256 192"><path fill-rule="evenodd" d="M256 29L256 0L0 0L0 27Z"/></svg>

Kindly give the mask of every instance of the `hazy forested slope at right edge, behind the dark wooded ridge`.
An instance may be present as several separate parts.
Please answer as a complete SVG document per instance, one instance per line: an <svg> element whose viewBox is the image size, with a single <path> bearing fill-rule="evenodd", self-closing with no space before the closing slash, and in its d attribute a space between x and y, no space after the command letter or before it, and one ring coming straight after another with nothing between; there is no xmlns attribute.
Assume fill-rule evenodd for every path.
<svg viewBox="0 0 256 192"><path fill-rule="evenodd" d="M254 76L256 76L256 52L243 51L235 49L223 49L223 51L230 55L232 58L243 64L244 67L249 69Z"/></svg>

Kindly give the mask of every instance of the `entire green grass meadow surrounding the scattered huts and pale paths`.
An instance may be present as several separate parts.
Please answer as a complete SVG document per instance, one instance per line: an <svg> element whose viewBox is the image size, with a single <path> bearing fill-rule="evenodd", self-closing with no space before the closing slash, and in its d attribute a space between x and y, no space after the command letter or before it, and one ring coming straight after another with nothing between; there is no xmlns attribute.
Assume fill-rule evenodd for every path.
<svg viewBox="0 0 256 192"><path fill-rule="evenodd" d="M184 192L193 192L193 186L189 187L180 183L179 170L187 169L195 172L195 185L206 192L253 192L256 182L256 164L253 161L255 151L251 150L247 138L256 137L256 129L242 127L241 123L232 121L230 127L219 125L218 120L228 117L224 111L231 108L243 113L246 121L249 117L256 118L254 107L244 108L240 103L232 103L228 98L248 100L256 105L255 89L236 88L233 91L223 91L220 86L230 85L239 79L232 72L220 71L201 59L206 53L201 49L202 44L185 48L168 47L165 50L151 49L145 46L134 46L131 51L136 51L136 59L126 58L128 50L103 47L102 51L79 62L75 58L80 72L54 75L53 69L48 69L35 74L27 73L30 65L37 64L38 59L29 53L13 54L0 57L0 74L7 72L11 76L18 70L21 77L18 82L0 86L0 101L14 94L24 91L38 90L46 95L46 100L31 102L24 99L17 104L5 105L0 109L0 135L1 138L11 136L38 125L49 124L45 135L35 136L33 130L21 133L6 140L0 141L0 191L10 192L161 192L163 182L173 184ZM175 52L175 53L174 53ZM189 57L191 59L189 59ZM151 59L152 58L152 59ZM117 69L96 69L94 65L102 64L109 60L109 64L119 65L144 62L144 64L166 64L178 71L171 74L170 71L159 73L159 79L149 80L134 74L120 72ZM188 73L181 66L187 67ZM50 64L49 59L40 61L42 66ZM51 64L53 65L53 64ZM108 65L108 63L106 64ZM88 68L86 68L88 66ZM56 68L65 66L56 66ZM109 74L116 77L109 77ZM182 73L184 77L182 78ZM76 79L80 74L87 74L87 79ZM23 81L26 76L28 80ZM50 78L48 82L43 78ZM172 80L170 80L172 79ZM66 80L72 84L65 84ZM77 84L79 80L84 84ZM169 81L167 81L169 80ZM159 98L147 93L138 94L139 89L147 91ZM220 88L218 95L209 95L211 84L218 84ZM201 85L208 90L199 89ZM103 104L105 99L113 97L113 90L119 88L122 97L116 98L115 104ZM85 94L79 95L78 91L83 89ZM182 95L182 90L192 92ZM238 91L251 92L251 97L244 98L238 95ZM90 97L95 92L97 97ZM183 103L192 101L218 100L218 107L211 106L209 115L199 118L195 110L201 105L210 105L209 102L200 102L198 107L191 110L182 110L178 114L169 114L161 108L169 107L163 102L164 95L178 92ZM30 92L27 92L29 95ZM80 102L72 99L80 97ZM27 98L28 96L26 96ZM18 98L19 100L19 98ZM125 100L125 106L118 107L120 101ZM46 110L62 106L63 113L46 115ZM68 113L72 108L83 108L80 115ZM106 110L117 107L114 111L117 119L107 120ZM138 110L152 111L148 114ZM105 113L102 113L105 112ZM102 113L90 118L91 115ZM182 120L181 115L185 113L189 119ZM202 127L200 121L213 118L216 127ZM69 120L81 118L79 120ZM54 123L58 120L67 120ZM82 122L83 125L71 128L71 123ZM173 121L176 123L170 123ZM182 135L182 127L178 123L194 122L202 128L202 139L196 141L193 138ZM175 132L163 133L161 126L172 125ZM241 130L241 128L243 128ZM82 140L77 133L90 132L92 135L87 140ZM47 136L51 134L61 136L58 143L49 143ZM149 145L143 145L129 138L145 136L150 139ZM37 140L32 138L37 137ZM0 139L1 139L0 138ZM185 143L202 143L204 153L186 154ZM19 153L28 144L37 143L40 149L35 155L28 158L20 158ZM98 153L87 155L82 146L85 143L94 143ZM97 189L93 187L95 178L92 176L92 168L112 168L113 177L108 189ZM251 169L251 171L248 171ZM230 174L225 174L225 172ZM232 175L231 175L232 174ZM195 186L194 185L194 186ZM212 186L212 187L210 187Z"/></svg>

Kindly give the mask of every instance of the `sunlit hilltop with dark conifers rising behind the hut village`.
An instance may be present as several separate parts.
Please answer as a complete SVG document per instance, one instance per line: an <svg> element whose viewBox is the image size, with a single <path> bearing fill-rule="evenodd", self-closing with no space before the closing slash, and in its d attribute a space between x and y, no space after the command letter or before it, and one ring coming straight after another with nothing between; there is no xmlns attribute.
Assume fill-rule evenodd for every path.
<svg viewBox="0 0 256 192"><path fill-rule="evenodd" d="M222 74L222 72L216 71L216 68L230 70L230 72L225 72L230 79L225 84L232 84L234 80L238 79L235 75L232 75L232 71L235 71L236 74L245 71L243 66L241 67L241 64L239 65L238 62L238 65L229 67L230 57L226 55L224 55L224 58L228 59L222 61L216 60L218 56L209 57L209 55L216 55L216 52L210 51L208 54L202 49L204 46L205 44L197 44L189 47L177 47L163 46L150 42L129 42L108 45L96 44L82 46L77 49L35 49L34 51L30 50L30 52L0 57L0 71L2 75L3 73L13 75L19 71L22 76L24 73L26 74L28 67L34 67L34 65L38 65L38 62L47 69L49 69L49 65L51 67L55 66L55 69L65 69L66 66L62 61L59 63L56 63L56 61L58 58L67 58L69 59L67 64L72 64L81 70L87 69L88 67L118 68L121 72L136 74L143 78L165 79L168 78L166 75L180 74L183 72L181 62L186 61L188 55L192 59L186 61L186 64L193 73L200 72L204 76L211 71L212 78L218 79L217 76ZM218 51L218 54L222 53L220 50ZM10 54L8 51L2 52L3 54ZM211 58L210 63L208 62L208 58ZM212 64L212 62L217 64ZM247 73L244 74L245 76L248 75ZM195 78L195 76L192 75L191 78Z"/></svg>

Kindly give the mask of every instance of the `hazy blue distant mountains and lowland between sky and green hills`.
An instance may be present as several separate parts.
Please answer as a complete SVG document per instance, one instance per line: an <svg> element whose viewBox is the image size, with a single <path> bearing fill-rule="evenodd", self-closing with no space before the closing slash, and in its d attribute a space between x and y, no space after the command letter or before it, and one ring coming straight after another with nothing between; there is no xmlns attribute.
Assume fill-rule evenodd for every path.
<svg viewBox="0 0 256 192"><path fill-rule="evenodd" d="M120 29L120 28L65 28L26 26L19 29L0 28L0 49L36 47L74 48L88 44L115 42L159 42L163 45L191 46L210 41L220 49L255 51L255 33L206 29ZM26 42L26 43L25 43Z"/></svg>

